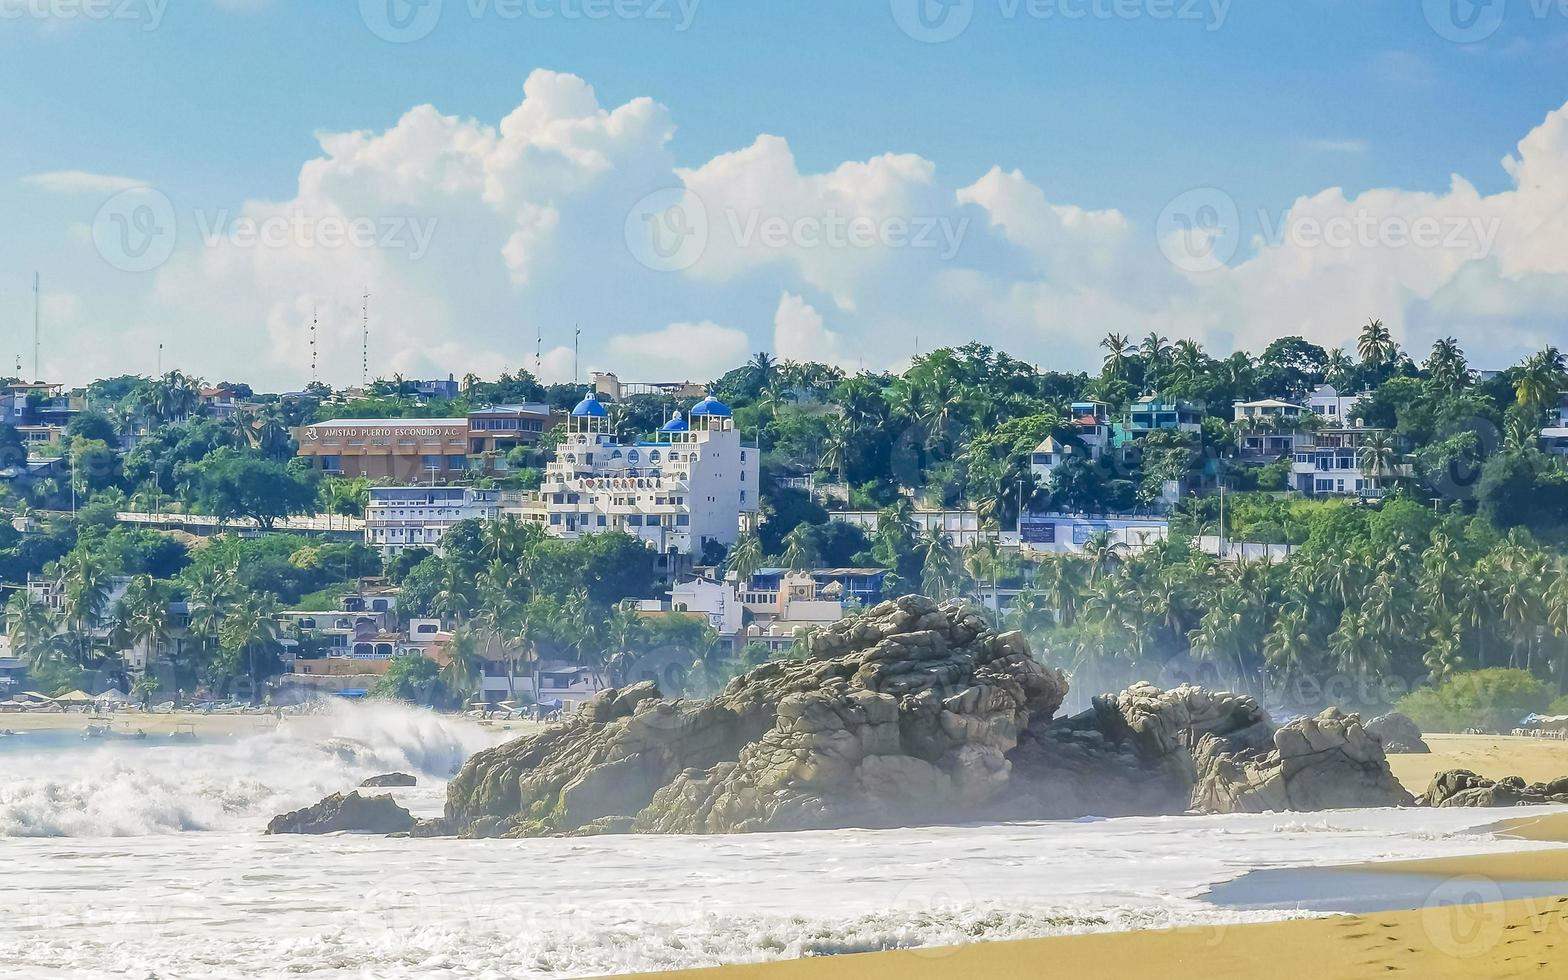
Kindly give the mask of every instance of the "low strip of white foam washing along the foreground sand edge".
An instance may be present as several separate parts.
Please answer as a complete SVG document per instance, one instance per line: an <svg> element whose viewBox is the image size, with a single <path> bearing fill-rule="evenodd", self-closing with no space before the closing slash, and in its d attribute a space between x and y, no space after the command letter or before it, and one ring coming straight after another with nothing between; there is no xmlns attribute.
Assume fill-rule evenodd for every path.
<svg viewBox="0 0 1568 980"><path fill-rule="evenodd" d="M227 941L221 960L190 946L0 939L5 960L47 963L71 977L177 975L265 977L569 977L695 969L892 949L927 950L1004 939L1303 917L1297 913L1218 913L1200 908L1088 909L975 905L952 909L887 909L847 917L699 914L671 920L613 922L566 917L550 928L502 922L426 924L406 928L329 928ZM0 977L8 975L0 966ZM36 974L34 974L36 975Z"/></svg>

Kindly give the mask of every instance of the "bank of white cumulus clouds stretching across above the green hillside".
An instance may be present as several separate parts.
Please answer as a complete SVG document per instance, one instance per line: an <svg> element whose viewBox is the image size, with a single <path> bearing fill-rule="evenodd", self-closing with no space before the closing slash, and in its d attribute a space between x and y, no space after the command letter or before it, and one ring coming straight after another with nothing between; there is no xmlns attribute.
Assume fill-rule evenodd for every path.
<svg viewBox="0 0 1568 980"><path fill-rule="evenodd" d="M157 336L182 367L296 387L318 317L323 378L358 381L365 290L370 373L406 376L533 370L543 332L543 373L566 381L575 323L601 339L585 343L583 368L629 381L710 379L770 343L884 368L982 339L1088 368L1107 331L1225 353L1284 332L1339 345L1380 317L1416 347L1475 339L1475 359L1496 367L1562 336L1568 107L1502 162L1501 193L1455 176L1436 191L1303 188L1261 215L1231 202L1259 229L1247 241L1204 209L1085 209L1018 169L947 176L889 152L812 172L771 135L681 166L673 133L674 114L651 99L605 107L585 80L536 71L499 122L423 105L384 132L320 135L284 201L215 207L160 188L179 216L174 259L122 278L140 299L83 290L74 325L60 325L83 351L74 368L116 372L127 343ZM86 190L89 177L33 180ZM699 248L662 265L630 237L665 193ZM1182 268L1162 237L1223 251Z"/></svg>

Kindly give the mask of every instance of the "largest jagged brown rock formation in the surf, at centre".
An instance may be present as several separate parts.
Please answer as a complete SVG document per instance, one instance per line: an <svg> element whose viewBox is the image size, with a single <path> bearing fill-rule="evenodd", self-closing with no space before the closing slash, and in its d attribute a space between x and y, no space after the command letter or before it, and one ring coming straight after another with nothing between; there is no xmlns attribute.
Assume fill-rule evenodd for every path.
<svg viewBox="0 0 1568 980"><path fill-rule="evenodd" d="M884 602L702 701L652 684L474 756L414 833L737 833L1408 804L1381 745L1327 712L1142 684L1057 718L1060 671L961 604Z"/></svg>

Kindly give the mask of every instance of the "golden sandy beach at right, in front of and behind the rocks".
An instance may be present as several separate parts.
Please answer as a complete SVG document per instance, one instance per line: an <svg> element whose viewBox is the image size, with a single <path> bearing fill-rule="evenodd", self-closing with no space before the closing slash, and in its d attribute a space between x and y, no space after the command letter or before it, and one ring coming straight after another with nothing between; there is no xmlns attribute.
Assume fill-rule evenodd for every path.
<svg viewBox="0 0 1568 980"><path fill-rule="evenodd" d="M1486 776L1555 779L1568 775L1568 743L1496 735L1428 735L1432 754L1391 756L1414 793L1438 771L1469 768ZM1521 815L1494 833L1568 844L1568 814ZM1325 869L1391 881L1430 881L1421 908L1364 916L1325 916L1261 925L1098 933L977 942L831 958L662 974L670 980L1038 980L1040 977L1217 980L1322 977L1552 977L1568 950L1568 848L1508 855L1389 861ZM1532 883L1540 897L1477 902L1510 883ZM1262 967L1261 964L1267 964Z"/></svg>

